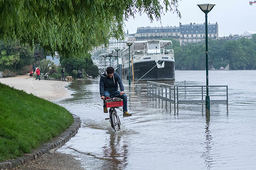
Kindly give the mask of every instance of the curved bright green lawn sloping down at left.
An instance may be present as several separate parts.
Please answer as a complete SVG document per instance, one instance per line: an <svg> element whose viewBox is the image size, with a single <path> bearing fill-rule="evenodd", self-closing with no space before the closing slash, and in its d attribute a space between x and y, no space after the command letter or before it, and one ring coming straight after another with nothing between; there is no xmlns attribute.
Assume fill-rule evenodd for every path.
<svg viewBox="0 0 256 170"><path fill-rule="evenodd" d="M30 153L73 121L64 107L0 83L0 161Z"/></svg>

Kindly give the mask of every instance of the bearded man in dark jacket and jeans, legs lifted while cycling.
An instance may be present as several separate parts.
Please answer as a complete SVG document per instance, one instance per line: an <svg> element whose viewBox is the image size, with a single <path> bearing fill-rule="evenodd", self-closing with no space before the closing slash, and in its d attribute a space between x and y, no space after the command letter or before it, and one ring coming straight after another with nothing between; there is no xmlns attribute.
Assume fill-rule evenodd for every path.
<svg viewBox="0 0 256 170"><path fill-rule="evenodd" d="M120 86L120 91L118 91L118 84ZM127 95L124 93L124 86L120 76L115 73L113 67L108 67L104 74L101 75L99 82L99 91L101 94L101 99L105 100L106 97L116 96L123 99L123 117L131 116L127 112ZM104 113L107 113L107 107L104 104Z"/></svg>

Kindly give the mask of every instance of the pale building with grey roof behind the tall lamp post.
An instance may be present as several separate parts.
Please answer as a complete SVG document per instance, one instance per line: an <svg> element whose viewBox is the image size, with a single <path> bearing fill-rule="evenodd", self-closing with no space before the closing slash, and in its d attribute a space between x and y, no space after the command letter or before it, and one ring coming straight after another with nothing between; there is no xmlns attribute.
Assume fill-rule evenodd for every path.
<svg viewBox="0 0 256 170"><path fill-rule="evenodd" d="M180 27L180 44L185 45L187 43L203 42L205 39L205 23L204 24L181 24ZM219 38L219 25L208 24L208 37L212 39Z"/></svg>

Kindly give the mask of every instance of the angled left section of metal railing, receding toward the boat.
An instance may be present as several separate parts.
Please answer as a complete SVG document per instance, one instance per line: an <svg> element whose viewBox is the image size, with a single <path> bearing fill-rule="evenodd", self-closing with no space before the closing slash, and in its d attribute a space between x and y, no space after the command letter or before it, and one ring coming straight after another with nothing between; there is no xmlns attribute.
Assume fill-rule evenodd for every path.
<svg viewBox="0 0 256 170"><path fill-rule="evenodd" d="M153 81L147 81L147 94L150 99L154 100L154 97L163 99L172 103L175 102L175 86L163 83L156 83Z"/></svg>

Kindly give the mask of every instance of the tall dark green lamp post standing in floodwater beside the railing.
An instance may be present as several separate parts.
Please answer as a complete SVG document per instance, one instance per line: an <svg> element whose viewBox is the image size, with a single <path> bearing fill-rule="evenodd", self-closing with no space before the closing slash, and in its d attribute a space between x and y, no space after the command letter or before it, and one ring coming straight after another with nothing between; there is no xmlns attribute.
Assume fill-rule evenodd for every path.
<svg viewBox="0 0 256 170"><path fill-rule="evenodd" d="M202 10L205 13L205 50L206 50L206 97L205 97L205 107L206 110L210 110L210 97L209 97L209 85L208 85L208 26L207 26L207 13L209 13L213 7L214 4L200 4L198 5L200 10Z"/></svg>

